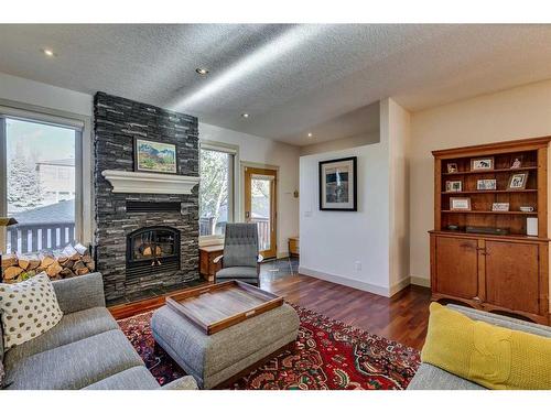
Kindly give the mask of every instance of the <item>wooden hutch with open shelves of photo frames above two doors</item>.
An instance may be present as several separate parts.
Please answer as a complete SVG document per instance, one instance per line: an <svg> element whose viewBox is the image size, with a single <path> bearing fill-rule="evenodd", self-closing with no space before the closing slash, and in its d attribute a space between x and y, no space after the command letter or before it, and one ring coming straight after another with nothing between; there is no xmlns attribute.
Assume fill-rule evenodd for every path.
<svg viewBox="0 0 551 413"><path fill-rule="evenodd" d="M544 137L433 151L433 300L458 301L478 309L549 325L550 141L551 137ZM489 170L473 170L476 159L491 159L494 165ZM516 159L520 160L520 167L511 169ZM449 171L449 165L456 169ZM525 172L526 186L510 189L511 174ZM479 180L495 180L496 188L478 189ZM461 182L461 191L449 192L447 182ZM453 197L468 198L471 209L452 210ZM508 203L509 210L493 210L494 203ZM522 211L521 206L533 210ZM537 236L527 235L529 217L538 218ZM467 227L501 231L471 232Z"/></svg>

